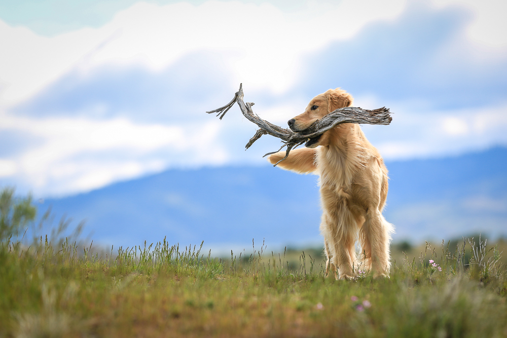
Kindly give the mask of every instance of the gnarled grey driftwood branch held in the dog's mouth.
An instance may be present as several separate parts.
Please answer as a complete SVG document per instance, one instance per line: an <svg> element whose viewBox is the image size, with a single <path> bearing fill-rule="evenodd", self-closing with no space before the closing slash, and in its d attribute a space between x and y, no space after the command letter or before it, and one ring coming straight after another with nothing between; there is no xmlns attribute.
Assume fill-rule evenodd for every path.
<svg viewBox="0 0 507 338"><path fill-rule="evenodd" d="M218 112L220 120L225 116L226 112L231 109L234 103L238 103L244 117L249 121L255 123L260 129L253 135L252 138L246 143L245 148L248 149L253 142L257 141L262 135L269 134L282 140L283 145L276 152L268 153L264 156L271 155L279 152L282 148L287 147L285 157L278 161L275 166L281 161L285 160L292 149L300 146L301 144L309 141L312 138L320 136L324 132L336 127L342 123L366 123L366 124L380 124L388 125L391 123L392 118L389 115L389 108L382 107L375 110L361 109L359 107L345 107L336 109L330 114L324 116L322 119L315 121L310 127L301 131L293 132L290 129L278 127L268 121L261 119L253 110L251 102L243 102L243 86L239 85L239 91L236 92L234 98L223 107L206 111L208 114Z"/></svg>

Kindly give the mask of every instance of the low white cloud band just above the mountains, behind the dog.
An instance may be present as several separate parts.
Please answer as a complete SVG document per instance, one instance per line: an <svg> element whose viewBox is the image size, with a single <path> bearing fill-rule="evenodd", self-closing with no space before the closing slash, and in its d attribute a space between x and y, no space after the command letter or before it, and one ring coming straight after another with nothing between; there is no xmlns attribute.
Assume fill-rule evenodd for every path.
<svg viewBox="0 0 507 338"><path fill-rule="evenodd" d="M374 98L357 101L379 106ZM263 109L261 116L283 125L303 106L287 102ZM507 144L507 104L456 111L410 111L414 104L388 106L394 112L390 126L363 126L386 160L445 156ZM265 164L262 155L280 145L265 136L245 152L243 146L256 126L237 107L222 121L206 117L209 119L171 126L134 124L124 118L28 119L4 114L0 132L15 131L42 141L1 159L0 177L28 182L39 196L62 195L168 167Z"/></svg>

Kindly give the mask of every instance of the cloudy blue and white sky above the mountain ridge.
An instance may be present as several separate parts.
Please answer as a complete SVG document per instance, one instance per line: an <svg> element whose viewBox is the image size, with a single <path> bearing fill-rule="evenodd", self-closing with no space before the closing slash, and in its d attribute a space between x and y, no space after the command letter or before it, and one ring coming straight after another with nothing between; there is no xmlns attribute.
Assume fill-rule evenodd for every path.
<svg viewBox="0 0 507 338"><path fill-rule="evenodd" d="M500 1L4 1L0 184L89 191L168 168L265 165L285 125L342 87L387 106L364 126L387 160L507 145L507 23Z"/></svg>

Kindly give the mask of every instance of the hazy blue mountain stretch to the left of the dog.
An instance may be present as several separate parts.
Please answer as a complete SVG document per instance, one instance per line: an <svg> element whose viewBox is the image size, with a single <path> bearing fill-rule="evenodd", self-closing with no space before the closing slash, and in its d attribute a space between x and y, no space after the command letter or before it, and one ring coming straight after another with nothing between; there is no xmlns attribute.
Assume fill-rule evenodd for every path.
<svg viewBox="0 0 507 338"><path fill-rule="evenodd" d="M320 240L317 177L270 166L169 170L44 205L86 218L95 243L126 246L164 236L227 247L251 245L252 238L270 244Z"/></svg>

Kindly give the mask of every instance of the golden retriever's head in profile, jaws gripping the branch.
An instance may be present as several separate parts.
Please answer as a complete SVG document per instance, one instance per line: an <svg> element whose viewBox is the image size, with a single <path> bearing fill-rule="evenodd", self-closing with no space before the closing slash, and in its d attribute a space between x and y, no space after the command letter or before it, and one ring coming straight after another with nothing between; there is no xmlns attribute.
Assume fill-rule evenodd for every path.
<svg viewBox="0 0 507 338"><path fill-rule="evenodd" d="M340 88L330 89L325 93L315 96L303 114L296 116L294 119L289 120L288 126L294 132L300 132L312 125L315 121L328 115L333 110L338 108L348 107L353 102L352 95ZM319 145L319 140L326 133L314 137L306 142L308 148L314 148Z"/></svg>

